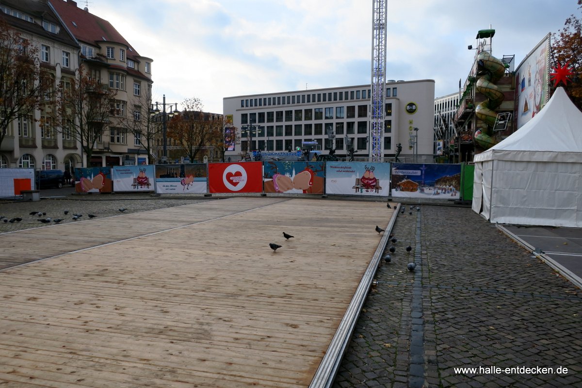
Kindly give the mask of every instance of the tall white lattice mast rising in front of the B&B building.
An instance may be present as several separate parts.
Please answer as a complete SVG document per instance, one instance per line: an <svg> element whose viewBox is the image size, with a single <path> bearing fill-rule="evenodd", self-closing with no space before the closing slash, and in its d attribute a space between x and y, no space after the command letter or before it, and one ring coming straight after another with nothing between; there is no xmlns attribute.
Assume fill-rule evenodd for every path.
<svg viewBox="0 0 582 388"><path fill-rule="evenodd" d="M382 161L384 88L386 85L386 12L388 0L372 0L372 81L370 96L370 160Z"/></svg>

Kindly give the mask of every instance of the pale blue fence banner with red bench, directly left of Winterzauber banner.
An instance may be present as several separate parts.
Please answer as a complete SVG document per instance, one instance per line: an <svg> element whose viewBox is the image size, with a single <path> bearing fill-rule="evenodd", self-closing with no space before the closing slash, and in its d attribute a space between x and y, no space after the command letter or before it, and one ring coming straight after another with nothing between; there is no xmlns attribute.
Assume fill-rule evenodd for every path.
<svg viewBox="0 0 582 388"><path fill-rule="evenodd" d="M325 193L388 197L391 163L326 162Z"/></svg>

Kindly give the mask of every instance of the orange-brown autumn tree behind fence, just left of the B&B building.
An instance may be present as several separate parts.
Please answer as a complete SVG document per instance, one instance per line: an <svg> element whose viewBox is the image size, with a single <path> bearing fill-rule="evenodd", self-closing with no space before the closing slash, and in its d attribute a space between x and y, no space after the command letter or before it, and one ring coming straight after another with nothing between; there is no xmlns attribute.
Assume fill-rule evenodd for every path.
<svg viewBox="0 0 582 388"><path fill-rule="evenodd" d="M184 156L196 161L198 156L214 149L214 138L222 133L222 117L204 112L204 105L196 97L185 99L181 106L184 111L170 120L167 136Z"/></svg>

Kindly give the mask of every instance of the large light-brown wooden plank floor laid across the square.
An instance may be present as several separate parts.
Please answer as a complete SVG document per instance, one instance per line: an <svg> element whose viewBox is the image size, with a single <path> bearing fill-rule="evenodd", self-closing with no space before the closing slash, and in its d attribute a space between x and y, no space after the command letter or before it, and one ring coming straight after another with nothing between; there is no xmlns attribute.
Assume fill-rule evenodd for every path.
<svg viewBox="0 0 582 388"><path fill-rule="evenodd" d="M307 387L392 212L230 198L62 225L105 245L0 271L0 385ZM53 229L1 242L33 257Z"/></svg>

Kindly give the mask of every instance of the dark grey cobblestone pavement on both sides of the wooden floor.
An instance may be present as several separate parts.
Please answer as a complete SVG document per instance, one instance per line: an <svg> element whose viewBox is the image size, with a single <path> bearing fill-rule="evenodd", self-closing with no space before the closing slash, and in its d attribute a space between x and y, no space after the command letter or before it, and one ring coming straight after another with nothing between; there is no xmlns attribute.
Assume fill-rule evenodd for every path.
<svg viewBox="0 0 582 388"><path fill-rule="evenodd" d="M0 221L0 233L42 225L29 215L33 210L53 218L69 210L63 222L74 222L75 212L104 217L118 215L119 208L129 213L218 199L101 194L0 201L0 215L23 218ZM396 252L378 268L378 285L333 386L581 387L582 292L471 209L420 209L410 215L407 206L396 220ZM409 262L417 263L414 272ZM491 366L562 366L568 372L454 369Z"/></svg>

